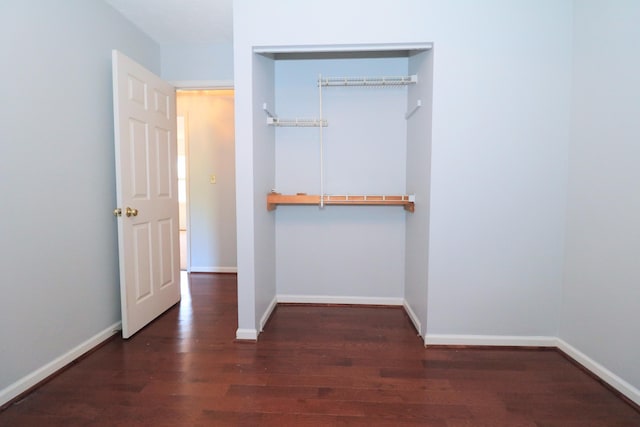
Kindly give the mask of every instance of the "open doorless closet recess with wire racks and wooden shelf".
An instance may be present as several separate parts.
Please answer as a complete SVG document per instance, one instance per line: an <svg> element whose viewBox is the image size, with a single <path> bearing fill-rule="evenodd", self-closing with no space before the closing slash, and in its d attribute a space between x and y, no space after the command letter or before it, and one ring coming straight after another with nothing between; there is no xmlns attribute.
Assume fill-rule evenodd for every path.
<svg viewBox="0 0 640 427"><path fill-rule="evenodd" d="M277 302L400 305L424 336L432 82L430 43L254 47Z"/></svg>

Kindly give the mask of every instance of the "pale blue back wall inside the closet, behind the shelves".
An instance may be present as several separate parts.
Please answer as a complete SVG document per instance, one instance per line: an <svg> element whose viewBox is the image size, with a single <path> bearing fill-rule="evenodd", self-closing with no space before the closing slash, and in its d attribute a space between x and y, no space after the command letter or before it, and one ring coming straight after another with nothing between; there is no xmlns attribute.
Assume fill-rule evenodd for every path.
<svg viewBox="0 0 640 427"><path fill-rule="evenodd" d="M319 116L323 77L400 76L407 58L277 60L275 113ZM404 194L407 89L322 88L324 193ZM276 189L320 194L319 128L276 128ZM281 206L280 300L401 304L405 211L397 206ZM328 298L331 297L331 298Z"/></svg>

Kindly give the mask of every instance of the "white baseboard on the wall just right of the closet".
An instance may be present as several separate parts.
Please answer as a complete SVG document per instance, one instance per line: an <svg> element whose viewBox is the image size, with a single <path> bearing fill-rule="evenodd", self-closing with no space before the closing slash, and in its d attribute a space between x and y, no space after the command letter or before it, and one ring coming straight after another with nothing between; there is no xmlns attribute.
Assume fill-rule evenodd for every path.
<svg viewBox="0 0 640 427"><path fill-rule="evenodd" d="M556 347L556 337L515 335L440 335L427 334L425 345L478 345L516 347Z"/></svg>

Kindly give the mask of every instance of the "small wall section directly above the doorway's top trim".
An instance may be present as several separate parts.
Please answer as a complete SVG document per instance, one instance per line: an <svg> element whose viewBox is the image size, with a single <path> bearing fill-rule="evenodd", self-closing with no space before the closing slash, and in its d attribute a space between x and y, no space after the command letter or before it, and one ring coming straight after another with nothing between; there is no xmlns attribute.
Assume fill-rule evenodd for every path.
<svg viewBox="0 0 640 427"><path fill-rule="evenodd" d="M233 81L233 45L163 45L162 78L168 81Z"/></svg>

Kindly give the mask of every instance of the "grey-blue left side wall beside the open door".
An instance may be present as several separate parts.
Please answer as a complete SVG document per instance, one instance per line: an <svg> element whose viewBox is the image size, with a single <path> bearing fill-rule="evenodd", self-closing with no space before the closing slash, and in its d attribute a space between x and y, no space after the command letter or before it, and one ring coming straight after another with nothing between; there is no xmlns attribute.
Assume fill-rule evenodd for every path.
<svg viewBox="0 0 640 427"><path fill-rule="evenodd" d="M103 2L0 3L0 403L120 321L113 48L160 70Z"/></svg>

